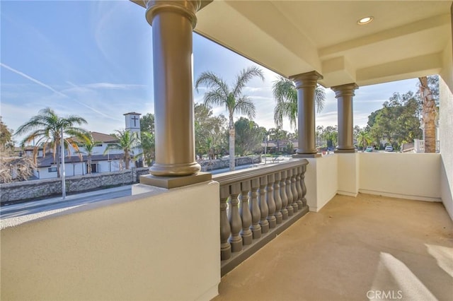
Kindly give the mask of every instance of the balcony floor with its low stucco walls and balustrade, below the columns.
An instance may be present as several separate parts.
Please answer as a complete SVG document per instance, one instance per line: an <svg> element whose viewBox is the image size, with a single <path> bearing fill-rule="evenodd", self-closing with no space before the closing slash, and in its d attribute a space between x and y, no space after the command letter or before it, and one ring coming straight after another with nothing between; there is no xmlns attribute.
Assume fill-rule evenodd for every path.
<svg viewBox="0 0 453 301"><path fill-rule="evenodd" d="M304 181L308 207L302 208L311 212L293 213L285 231L277 223L261 231L252 244L267 244L238 267L227 267L230 273L221 271L228 265L219 231L225 213L229 225L241 220L243 198L237 196L246 194L262 225L258 200L265 191L267 197L263 187L277 173L287 175L285 183ZM447 300L453 223L439 202L441 178L440 154L350 153L294 159L176 189L138 184L133 196L3 229L1 298L210 300L220 283L218 300L363 300L369 290ZM243 239L237 232L227 235L231 258L253 249L234 247L232 238Z"/></svg>

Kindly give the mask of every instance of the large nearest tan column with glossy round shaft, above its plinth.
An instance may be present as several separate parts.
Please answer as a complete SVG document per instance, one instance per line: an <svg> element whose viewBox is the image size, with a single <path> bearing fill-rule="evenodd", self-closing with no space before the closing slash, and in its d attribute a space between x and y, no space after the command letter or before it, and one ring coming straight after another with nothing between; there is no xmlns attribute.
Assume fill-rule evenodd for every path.
<svg viewBox="0 0 453 301"><path fill-rule="evenodd" d="M201 1L148 1L152 26L156 163L151 175L193 175L192 31Z"/></svg>

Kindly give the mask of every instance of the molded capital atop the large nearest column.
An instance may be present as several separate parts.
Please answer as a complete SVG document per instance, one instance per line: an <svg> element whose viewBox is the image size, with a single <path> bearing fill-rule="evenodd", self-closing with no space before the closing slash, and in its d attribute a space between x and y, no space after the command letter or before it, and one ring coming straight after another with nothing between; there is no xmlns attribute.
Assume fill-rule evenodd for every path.
<svg viewBox="0 0 453 301"><path fill-rule="evenodd" d="M206 1L202 0L148 0L147 1L147 21L152 25L154 17L161 11L173 11L180 13L190 20L192 28L197 25L195 13L205 6Z"/></svg>

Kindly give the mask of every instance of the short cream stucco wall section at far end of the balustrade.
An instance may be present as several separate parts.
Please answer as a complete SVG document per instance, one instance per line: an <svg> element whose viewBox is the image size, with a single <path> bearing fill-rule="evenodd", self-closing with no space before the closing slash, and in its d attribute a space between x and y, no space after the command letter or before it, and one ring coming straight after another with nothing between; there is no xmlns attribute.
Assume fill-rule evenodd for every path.
<svg viewBox="0 0 453 301"><path fill-rule="evenodd" d="M337 155L322 158L306 158L306 202L310 211L318 212L338 191Z"/></svg>

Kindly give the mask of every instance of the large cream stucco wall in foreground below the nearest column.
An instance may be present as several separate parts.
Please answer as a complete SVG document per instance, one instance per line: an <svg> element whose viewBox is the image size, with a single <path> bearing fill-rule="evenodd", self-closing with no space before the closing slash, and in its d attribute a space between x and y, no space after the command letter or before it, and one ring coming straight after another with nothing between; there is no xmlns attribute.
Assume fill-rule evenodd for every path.
<svg viewBox="0 0 453 301"><path fill-rule="evenodd" d="M217 295L217 182L151 189L83 208L1 230L1 300Z"/></svg>

